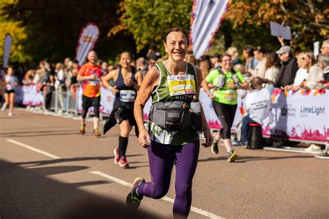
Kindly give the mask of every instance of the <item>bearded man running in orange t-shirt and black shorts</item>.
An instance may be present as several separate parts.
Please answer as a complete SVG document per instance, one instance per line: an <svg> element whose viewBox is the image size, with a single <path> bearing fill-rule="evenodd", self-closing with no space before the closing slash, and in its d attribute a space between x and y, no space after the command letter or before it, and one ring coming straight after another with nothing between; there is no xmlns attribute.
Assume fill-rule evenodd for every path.
<svg viewBox="0 0 329 219"><path fill-rule="evenodd" d="M78 71L77 80L83 82L83 111L81 113L80 133L85 134L85 117L89 107L94 106L94 135L99 133L99 106L101 105L101 67L96 64L97 54L90 51L87 55L89 62L83 64Z"/></svg>

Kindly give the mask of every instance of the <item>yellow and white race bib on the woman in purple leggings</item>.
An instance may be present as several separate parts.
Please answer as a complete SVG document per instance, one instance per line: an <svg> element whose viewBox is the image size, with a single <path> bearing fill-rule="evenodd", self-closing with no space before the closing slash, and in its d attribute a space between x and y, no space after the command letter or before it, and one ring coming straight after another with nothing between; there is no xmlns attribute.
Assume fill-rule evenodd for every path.
<svg viewBox="0 0 329 219"><path fill-rule="evenodd" d="M194 76L167 76L170 96L196 94Z"/></svg>

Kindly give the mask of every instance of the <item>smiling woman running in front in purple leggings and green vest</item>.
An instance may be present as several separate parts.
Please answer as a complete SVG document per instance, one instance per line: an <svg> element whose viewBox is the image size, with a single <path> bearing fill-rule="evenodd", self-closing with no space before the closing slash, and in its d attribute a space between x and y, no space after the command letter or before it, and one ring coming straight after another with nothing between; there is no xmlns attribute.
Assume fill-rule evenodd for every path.
<svg viewBox="0 0 329 219"><path fill-rule="evenodd" d="M137 177L133 183L133 190L126 198L128 206L137 209L144 195L153 199L164 197L168 192L171 171L175 164L174 217L183 218L187 218L189 215L192 202L192 179L199 157L199 133L192 126L184 130L176 127L176 131L173 131L174 127L170 128L170 124L167 124L168 128L163 128L163 124L160 127L163 117L162 121L161 119L156 121L155 112L163 110L162 112L168 116L166 116L166 120L179 117L175 120L177 122L184 117L180 114L178 116L175 110L192 108L191 102L195 97L199 98L202 74L192 64L184 62L188 45L188 36L183 28L168 30L164 39L167 55L164 61L151 67L146 73L137 95L134 114L140 130L140 146L146 148L149 155L151 182L145 182L143 178ZM150 96L152 97L151 111L154 109L155 112L150 114L151 122L148 132L144 128L143 108ZM183 107L173 107L171 109L174 111L170 112L171 109L167 111L170 105L176 103L183 104ZM158 105L167 105L167 107L158 107ZM212 144L212 134L201 105L199 105L199 110L201 110L199 126L203 128L205 134L205 143L202 145L209 147ZM192 123L192 119L189 118L188 121Z"/></svg>

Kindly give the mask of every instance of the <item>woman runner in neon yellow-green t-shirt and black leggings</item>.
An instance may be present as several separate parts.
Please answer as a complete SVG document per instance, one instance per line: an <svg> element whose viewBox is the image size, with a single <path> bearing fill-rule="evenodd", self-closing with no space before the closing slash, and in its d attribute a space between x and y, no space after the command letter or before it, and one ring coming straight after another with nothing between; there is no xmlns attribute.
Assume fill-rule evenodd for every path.
<svg viewBox="0 0 329 219"><path fill-rule="evenodd" d="M208 83L214 85L214 94L210 93ZM212 153L218 154L218 141L223 137L224 146L228 152L228 162L237 159L230 139L230 128L232 128L235 111L237 110L237 89L248 89L248 82L242 74L233 69L233 60L227 53L222 55L221 69L210 71L202 83L205 92L212 98L212 107L221 122L221 130L217 132Z"/></svg>

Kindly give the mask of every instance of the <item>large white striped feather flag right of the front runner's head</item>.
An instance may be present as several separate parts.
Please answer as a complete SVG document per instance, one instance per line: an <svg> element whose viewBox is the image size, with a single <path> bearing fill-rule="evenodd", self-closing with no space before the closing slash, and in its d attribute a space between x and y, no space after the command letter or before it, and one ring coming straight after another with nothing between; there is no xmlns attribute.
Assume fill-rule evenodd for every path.
<svg viewBox="0 0 329 219"><path fill-rule="evenodd" d="M210 48L228 6L229 0L194 0L189 42L196 59Z"/></svg>

